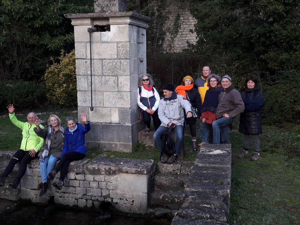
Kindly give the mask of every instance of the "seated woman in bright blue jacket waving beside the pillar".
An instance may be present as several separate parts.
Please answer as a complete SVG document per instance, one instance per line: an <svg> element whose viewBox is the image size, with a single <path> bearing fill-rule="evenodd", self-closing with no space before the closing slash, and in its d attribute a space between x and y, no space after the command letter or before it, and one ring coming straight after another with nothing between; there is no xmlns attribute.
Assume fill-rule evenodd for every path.
<svg viewBox="0 0 300 225"><path fill-rule="evenodd" d="M48 177L53 180L58 171L60 171L59 181L53 182L53 186L58 190L63 187L63 180L67 173L69 164L75 160L81 160L86 155L84 135L90 131L90 123L84 113L81 113L81 121L84 123L82 127L79 123L74 122L74 118L66 119L67 126L65 130L65 141L63 144L63 153L57 166L52 170Z"/></svg>

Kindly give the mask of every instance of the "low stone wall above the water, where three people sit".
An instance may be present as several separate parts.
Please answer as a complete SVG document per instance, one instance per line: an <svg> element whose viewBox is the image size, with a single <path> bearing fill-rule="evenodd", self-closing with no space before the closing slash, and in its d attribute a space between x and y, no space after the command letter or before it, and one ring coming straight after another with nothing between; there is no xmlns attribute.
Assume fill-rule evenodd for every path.
<svg viewBox="0 0 300 225"><path fill-rule="evenodd" d="M0 173L12 155L13 152L0 152ZM62 190L58 191L50 184L46 194L40 197L37 185L41 182L41 176L38 160L35 159L28 164L17 190L7 187L17 173L17 168L14 169L5 186L0 187L0 198L47 203L54 197L57 204L90 209L97 209L103 202L109 202L113 210L146 214L154 171L153 160L97 157L74 161L68 168ZM59 173L54 181L58 178Z"/></svg>

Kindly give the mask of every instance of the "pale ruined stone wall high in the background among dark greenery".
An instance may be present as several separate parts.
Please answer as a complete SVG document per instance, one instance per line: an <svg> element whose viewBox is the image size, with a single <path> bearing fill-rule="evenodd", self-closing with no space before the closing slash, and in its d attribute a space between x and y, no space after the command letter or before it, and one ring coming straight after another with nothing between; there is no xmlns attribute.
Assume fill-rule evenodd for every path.
<svg viewBox="0 0 300 225"><path fill-rule="evenodd" d="M197 19L192 16L189 8L188 0L166 1L165 14L168 15L168 19L164 27L167 32L163 43L164 51L181 52L187 48L187 42L192 44L197 42L197 35L194 32Z"/></svg>

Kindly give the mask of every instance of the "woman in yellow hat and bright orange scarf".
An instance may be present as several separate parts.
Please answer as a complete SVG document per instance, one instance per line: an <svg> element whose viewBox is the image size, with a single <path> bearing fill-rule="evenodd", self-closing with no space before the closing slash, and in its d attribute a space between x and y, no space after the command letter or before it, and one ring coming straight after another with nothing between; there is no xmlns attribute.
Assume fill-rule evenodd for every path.
<svg viewBox="0 0 300 225"><path fill-rule="evenodd" d="M197 108L198 112L200 112L201 98L200 98L200 94L198 92L198 87L196 85L194 85L194 79L191 76L184 77L181 85L175 89L175 92L184 96L184 98L187 99L193 107ZM196 139L197 139L196 122L197 122L197 119L194 117L186 118L186 113L184 113L184 115L185 115L184 123L189 125L190 131L191 131L193 151L197 151L197 145L196 145Z"/></svg>

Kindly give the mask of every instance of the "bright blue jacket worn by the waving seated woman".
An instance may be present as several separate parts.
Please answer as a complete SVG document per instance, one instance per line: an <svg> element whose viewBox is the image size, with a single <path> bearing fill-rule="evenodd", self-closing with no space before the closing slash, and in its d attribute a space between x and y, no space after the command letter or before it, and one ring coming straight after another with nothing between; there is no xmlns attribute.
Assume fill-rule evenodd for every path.
<svg viewBox="0 0 300 225"><path fill-rule="evenodd" d="M85 140L84 134L88 133L91 129L90 122L82 127L79 123L77 124L77 128L73 133L69 131L69 128L65 129L65 141L63 143L63 153L62 156L68 152L79 152L82 154L86 154L85 148Z"/></svg>

